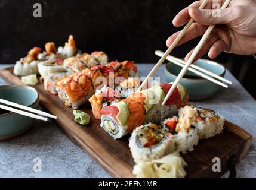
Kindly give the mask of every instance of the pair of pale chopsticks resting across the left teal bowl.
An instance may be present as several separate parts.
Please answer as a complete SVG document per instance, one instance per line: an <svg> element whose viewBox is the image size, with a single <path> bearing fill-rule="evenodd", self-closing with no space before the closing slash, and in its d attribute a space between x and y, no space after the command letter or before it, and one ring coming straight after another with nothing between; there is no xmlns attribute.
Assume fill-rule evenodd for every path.
<svg viewBox="0 0 256 190"><path fill-rule="evenodd" d="M31 107L19 105L18 103L10 102L8 100L0 99L0 103L4 103L5 105L17 107L17 108L20 108L20 109L32 112L32 113L24 112L24 111L19 110L19 109L14 109L13 107L8 107L8 106L5 106L5 105L0 105L0 109L4 109L4 110L8 110L10 112L18 113L20 115L24 115L24 116L27 116L29 118L39 119L39 120L42 120L42 121L48 121L48 118L57 119L57 116L51 115L50 113L42 112L40 110L33 109ZM38 113L39 115L47 116L48 118L44 118L42 116L35 115L33 113Z"/></svg>

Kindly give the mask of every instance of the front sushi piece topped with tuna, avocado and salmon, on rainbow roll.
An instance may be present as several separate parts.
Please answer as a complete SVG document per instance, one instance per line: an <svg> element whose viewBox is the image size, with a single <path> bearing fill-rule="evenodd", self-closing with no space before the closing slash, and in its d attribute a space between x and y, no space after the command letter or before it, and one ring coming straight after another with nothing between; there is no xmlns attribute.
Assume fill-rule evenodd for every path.
<svg viewBox="0 0 256 190"><path fill-rule="evenodd" d="M131 99L105 106L100 113L100 126L115 139L131 133L144 121L143 105Z"/></svg>

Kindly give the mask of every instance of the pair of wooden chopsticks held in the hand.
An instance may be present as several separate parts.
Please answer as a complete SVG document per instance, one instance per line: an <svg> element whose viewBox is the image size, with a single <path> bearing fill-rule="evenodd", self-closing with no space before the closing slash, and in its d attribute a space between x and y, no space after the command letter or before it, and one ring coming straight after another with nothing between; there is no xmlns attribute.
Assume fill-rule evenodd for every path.
<svg viewBox="0 0 256 190"><path fill-rule="evenodd" d="M229 5L230 1L231 0L226 0L224 2L224 4L221 6L221 9L227 8L227 6ZM204 0L202 2L201 6L199 7L199 9L205 8L206 5L208 4L208 2L209 2L209 0ZM152 71L150 71L149 75L147 75L146 79L143 81L143 83L138 88L138 91L141 90L144 87L144 85L147 83L147 80L149 79L149 77L152 77L153 74L156 72L156 70L159 68L159 66L162 65L162 63L165 61L166 57L169 55L169 53L171 53L172 49L174 49L174 47L177 46L178 42L180 42L181 38L184 36L184 34L186 33L186 31L189 29L189 27L191 26L191 24L193 22L194 22L194 20L192 18L190 18L189 22L186 24L184 29L181 30L180 34L178 34L177 38L174 40L172 45L169 46L169 48L166 50L164 55L162 55L162 58L159 59L158 63L154 66ZM180 74L178 74L176 80L174 81L174 83L171 86L171 89L168 91L167 95L165 96L165 99L162 102L162 105L165 105L166 101L169 99L169 97L171 96L172 92L175 90L176 86L180 82L181 78L183 78L183 76L186 73L187 69L189 69L190 64L192 64L192 62L194 61L196 55L198 55L199 50L202 48L203 44L205 43L206 39L209 37L209 34L211 34L211 31L214 29L214 27L215 27L215 25L209 26L208 29L206 30L205 34L203 34L202 39L200 40L200 42L196 46L195 50L193 50L193 53L190 56L189 60L183 66L183 69L181 69Z"/></svg>

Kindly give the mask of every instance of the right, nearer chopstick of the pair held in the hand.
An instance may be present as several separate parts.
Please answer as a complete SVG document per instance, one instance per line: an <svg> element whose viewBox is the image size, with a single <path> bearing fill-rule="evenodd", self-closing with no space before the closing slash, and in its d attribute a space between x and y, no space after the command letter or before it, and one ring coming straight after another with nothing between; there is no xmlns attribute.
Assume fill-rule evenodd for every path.
<svg viewBox="0 0 256 190"><path fill-rule="evenodd" d="M227 8L227 6L229 5L230 1L231 0L226 0L224 2L224 4L221 6L221 9ZM171 86L171 89L168 91L167 95L165 96L165 99L162 102L162 105L165 105L166 101L169 99L169 97L171 96L172 92L175 90L175 88L178 85L178 83L180 83L181 78L186 73L187 69L189 68L189 65L192 64L192 62L194 61L196 55L198 55L199 50L201 49L201 47L205 43L205 41L208 38L209 34L211 34L211 31L214 29L214 27L215 27L215 25L209 26L208 29L206 30L205 34L203 34L202 39L200 40L200 42L196 46L195 50L193 50L193 53L190 56L189 60L184 65L183 69L181 69L180 74L178 74L176 80L174 81L174 83Z"/></svg>

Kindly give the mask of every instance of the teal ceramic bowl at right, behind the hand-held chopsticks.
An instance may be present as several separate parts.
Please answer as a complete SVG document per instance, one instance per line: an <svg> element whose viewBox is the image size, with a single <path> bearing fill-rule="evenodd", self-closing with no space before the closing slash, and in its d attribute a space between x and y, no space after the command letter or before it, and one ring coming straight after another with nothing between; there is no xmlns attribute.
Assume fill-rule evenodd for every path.
<svg viewBox="0 0 256 190"><path fill-rule="evenodd" d="M214 61L209 61L207 59L199 59L194 63L208 71L214 72L221 77L224 77L226 69L223 65L218 64ZM177 75L181 71L181 67L169 62L165 65L165 77L168 82L175 81ZM190 100L203 100L214 95L220 88L220 85L212 83L205 78L201 78L193 72L187 71L184 77L180 81L181 85L186 87L189 93Z"/></svg>

